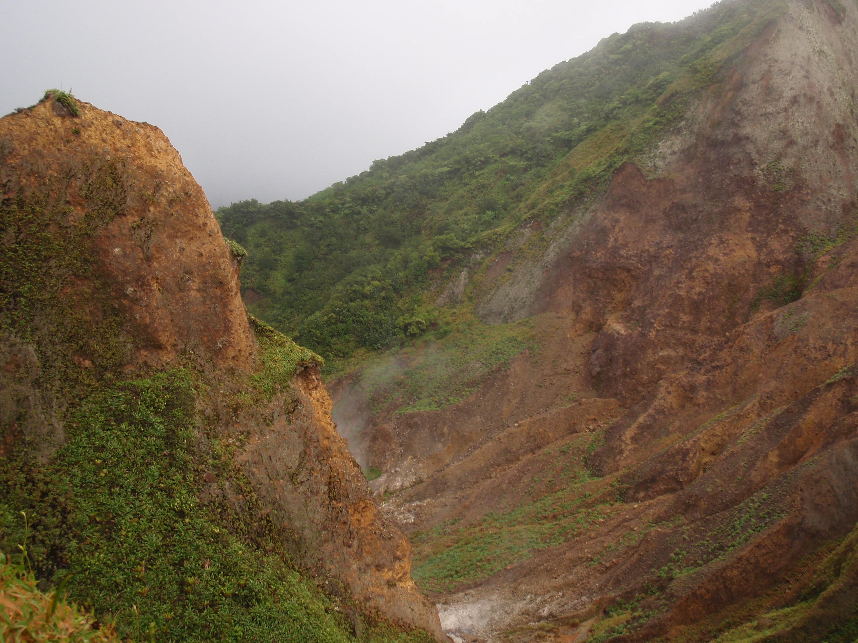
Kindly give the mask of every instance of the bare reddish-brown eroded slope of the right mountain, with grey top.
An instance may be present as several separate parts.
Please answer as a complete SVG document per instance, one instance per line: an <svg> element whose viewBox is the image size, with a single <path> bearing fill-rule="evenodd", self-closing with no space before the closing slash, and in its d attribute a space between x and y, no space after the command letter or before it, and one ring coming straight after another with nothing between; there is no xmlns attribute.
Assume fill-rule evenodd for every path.
<svg viewBox="0 0 858 643"><path fill-rule="evenodd" d="M565 436L605 430L583 454L604 485L591 491L613 484L624 503L444 599L450 623L491 634L537 616L583 620L648 586L666 593L640 609L660 616L618 640L709 640L725 615L755 617L743 601L757 597L764 613L807 598L816 581L797 562L858 520L856 78L858 5L789 3L680 129L556 233L564 246L551 247L529 293L476 293L489 322L530 302L540 354L442 412L369 424L368 463L411 467L379 488L423 481L389 505L422 530L467 526L507 496L528 502L523 489L553 461L546 445L556 453L574 443ZM530 283L535 264L517 265L526 274L508 283ZM583 402L567 411L571 392ZM760 502L768 518L742 535L736 525ZM650 520L661 526L614 549ZM727 552L713 557L713 542ZM678 560L692 571L656 574ZM807 608L792 629L773 625L785 628L777 640L806 640L826 618L828 628L850 622L849 574L828 607ZM486 602L489 616L462 616L462 605Z"/></svg>

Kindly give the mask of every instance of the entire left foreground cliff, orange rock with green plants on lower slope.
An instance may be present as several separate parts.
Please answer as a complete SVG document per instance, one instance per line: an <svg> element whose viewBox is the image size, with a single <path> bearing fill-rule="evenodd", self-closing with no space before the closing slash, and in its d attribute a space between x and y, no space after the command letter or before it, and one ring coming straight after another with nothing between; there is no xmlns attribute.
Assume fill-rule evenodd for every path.
<svg viewBox="0 0 858 643"><path fill-rule="evenodd" d="M445 640L160 129L47 93L0 185L0 547L124 636Z"/></svg>

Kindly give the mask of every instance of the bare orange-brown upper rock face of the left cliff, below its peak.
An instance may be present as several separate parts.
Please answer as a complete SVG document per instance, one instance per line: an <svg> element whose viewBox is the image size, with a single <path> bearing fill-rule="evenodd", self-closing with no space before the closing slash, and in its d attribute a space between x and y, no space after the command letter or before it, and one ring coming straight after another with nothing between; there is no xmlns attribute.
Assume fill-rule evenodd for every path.
<svg viewBox="0 0 858 643"><path fill-rule="evenodd" d="M118 311L133 343L125 370L161 367L183 352L251 370L239 261L181 157L152 125L87 104L80 111L72 117L48 99L0 121L3 199L62 210L51 233L93 227L81 238L89 270L58 275L67 279L59 297L90 322L106 317L102 308ZM76 361L100 366L85 347Z"/></svg>

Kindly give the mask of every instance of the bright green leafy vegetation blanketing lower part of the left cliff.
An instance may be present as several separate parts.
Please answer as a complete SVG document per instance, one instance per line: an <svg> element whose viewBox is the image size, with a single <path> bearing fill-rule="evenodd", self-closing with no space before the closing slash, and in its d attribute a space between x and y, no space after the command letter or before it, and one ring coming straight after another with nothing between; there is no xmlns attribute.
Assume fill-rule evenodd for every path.
<svg viewBox="0 0 858 643"><path fill-rule="evenodd" d="M22 545L40 580L66 580L125 640L347 641L355 628L359 640L431 640L355 616L347 592L325 594L296 569L240 472L229 474L239 505L202 502L215 454L195 433L198 377L104 388L69 412L47 465L0 461L0 550L21 562Z"/></svg>

